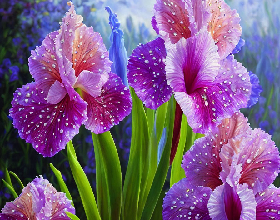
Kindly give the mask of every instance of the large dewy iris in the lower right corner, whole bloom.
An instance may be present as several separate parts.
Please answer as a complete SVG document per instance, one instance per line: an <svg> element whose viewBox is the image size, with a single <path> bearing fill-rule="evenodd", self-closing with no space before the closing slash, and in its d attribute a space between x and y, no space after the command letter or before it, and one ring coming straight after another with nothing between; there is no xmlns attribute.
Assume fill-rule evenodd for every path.
<svg viewBox="0 0 280 220"><path fill-rule="evenodd" d="M280 189L272 184L280 172L278 148L242 113L199 138L182 168L187 178L165 196L164 220L279 219Z"/></svg>

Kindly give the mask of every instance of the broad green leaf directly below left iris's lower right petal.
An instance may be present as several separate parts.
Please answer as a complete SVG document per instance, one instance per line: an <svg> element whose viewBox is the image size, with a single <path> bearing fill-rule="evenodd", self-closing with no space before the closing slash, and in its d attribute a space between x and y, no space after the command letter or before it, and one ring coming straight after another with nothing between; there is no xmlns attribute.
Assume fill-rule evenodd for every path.
<svg viewBox="0 0 280 220"><path fill-rule="evenodd" d="M102 219L120 219L122 208L122 173L118 152L111 133L94 134L96 191Z"/></svg>

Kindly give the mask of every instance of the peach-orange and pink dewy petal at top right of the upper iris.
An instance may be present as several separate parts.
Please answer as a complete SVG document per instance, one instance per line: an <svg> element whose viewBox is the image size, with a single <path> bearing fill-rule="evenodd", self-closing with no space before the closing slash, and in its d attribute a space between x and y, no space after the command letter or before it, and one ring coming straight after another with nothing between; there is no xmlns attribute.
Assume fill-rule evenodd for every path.
<svg viewBox="0 0 280 220"><path fill-rule="evenodd" d="M218 53L222 60L232 52L241 37L239 14L236 10L231 10L224 0L207 0L204 4L212 14L208 31L219 48Z"/></svg>

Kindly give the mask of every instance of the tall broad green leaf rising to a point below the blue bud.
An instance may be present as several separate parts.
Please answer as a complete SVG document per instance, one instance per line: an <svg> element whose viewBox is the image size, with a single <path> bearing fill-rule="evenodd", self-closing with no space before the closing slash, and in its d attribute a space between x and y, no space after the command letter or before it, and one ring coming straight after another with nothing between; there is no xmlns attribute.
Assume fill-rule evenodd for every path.
<svg viewBox="0 0 280 220"><path fill-rule="evenodd" d="M123 186L122 219L137 219L140 184L148 159L149 127L142 101L130 87L133 100L132 135L128 168ZM147 172L147 171L145 171Z"/></svg>

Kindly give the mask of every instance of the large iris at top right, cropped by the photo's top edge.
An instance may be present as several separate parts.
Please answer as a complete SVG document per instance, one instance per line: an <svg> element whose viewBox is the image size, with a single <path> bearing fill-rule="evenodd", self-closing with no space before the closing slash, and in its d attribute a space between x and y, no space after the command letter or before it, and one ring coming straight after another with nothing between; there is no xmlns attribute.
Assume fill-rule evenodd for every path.
<svg viewBox="0 0 280 220"><path fill-rule="evenodd" d="M146 107L156 109L174 94L196 133L247 107L254 85L232 55L244 44L236 10L223 0L157 0L154 11L160 36L139 45L128 64L129 85ZM251 98L255 104L258 97Z"/></svg>

